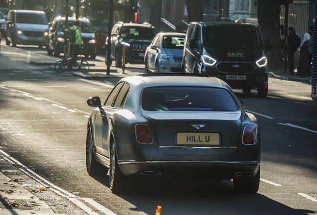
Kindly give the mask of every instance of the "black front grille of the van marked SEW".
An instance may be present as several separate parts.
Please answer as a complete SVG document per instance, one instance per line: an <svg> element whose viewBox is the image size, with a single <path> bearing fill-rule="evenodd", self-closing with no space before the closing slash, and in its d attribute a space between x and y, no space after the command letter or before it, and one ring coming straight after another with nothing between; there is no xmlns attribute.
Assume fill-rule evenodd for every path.
<svg viewBox="0 0 317 215"><path fill-rule="evenodd" d="M216 68L222 73L253 73L256 66L252 63L219 63Z"/></svg>

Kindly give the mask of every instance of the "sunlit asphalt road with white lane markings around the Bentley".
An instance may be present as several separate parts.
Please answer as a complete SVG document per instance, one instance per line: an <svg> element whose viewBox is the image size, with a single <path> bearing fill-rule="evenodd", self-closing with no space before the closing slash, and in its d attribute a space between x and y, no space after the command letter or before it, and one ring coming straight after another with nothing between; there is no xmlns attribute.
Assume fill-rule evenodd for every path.
<svg viewBox="0 0 317 215"><path fill-rule="evenodd" d="M29 64L31 60L55 58L43 49L1 42L0 149L54 185L118 215L154 215L158 205L162 215L317 213L317 202L308 199L317 192L317 102L310 98L309 84L270 78L267 98L258 98L254 90L235 91L260 126L258 194L236 194L231 181L188 172L186 178L136 178L126 193L114 195L106 171L94 178L86 172L87 116L92 110L86 101L91 96L106 100L118 80L56 74L48 66ZM96 64L98 60L103 63L102 56Z"/></svg>

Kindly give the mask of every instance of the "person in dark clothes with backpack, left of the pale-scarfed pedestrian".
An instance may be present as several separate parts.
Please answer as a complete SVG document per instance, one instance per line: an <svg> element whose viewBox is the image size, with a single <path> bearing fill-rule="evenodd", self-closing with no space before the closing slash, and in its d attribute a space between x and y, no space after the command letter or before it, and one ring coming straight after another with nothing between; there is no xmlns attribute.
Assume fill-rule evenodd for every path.
<svg viewBox="0 0 317 215"><path fill-rule="evenodd" d="M294 54L297 48L301 45L301 38L296 34L293 27L288 28L287 37L287 58L289 62L289 74L294 74L295 70L295 60Z"/></svg>

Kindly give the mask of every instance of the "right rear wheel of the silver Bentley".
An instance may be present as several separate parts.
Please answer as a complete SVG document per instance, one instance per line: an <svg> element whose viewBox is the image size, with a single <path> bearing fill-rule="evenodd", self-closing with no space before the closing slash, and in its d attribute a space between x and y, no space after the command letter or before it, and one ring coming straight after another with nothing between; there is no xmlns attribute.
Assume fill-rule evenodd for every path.
<svg viewBox="0 0 317 215"><path fill-rule="evenodd" d="M260 186L260 167L254 177L233 179L234 190L239 193L257 193Z"/></svg>

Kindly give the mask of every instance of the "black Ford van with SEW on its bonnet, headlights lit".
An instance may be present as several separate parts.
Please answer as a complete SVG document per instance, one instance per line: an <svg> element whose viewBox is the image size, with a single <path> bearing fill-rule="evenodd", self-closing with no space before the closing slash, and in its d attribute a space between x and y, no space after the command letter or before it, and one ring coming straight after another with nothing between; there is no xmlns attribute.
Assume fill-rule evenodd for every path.
<svg viewBox="0 0 317 215"><path fill-rule="evenodd" d="M186 33L182 66L185 72L207 73L225 81L231 88L259 97L268 94L268 68L256 25L246 23L190 22Z"/></svg>

